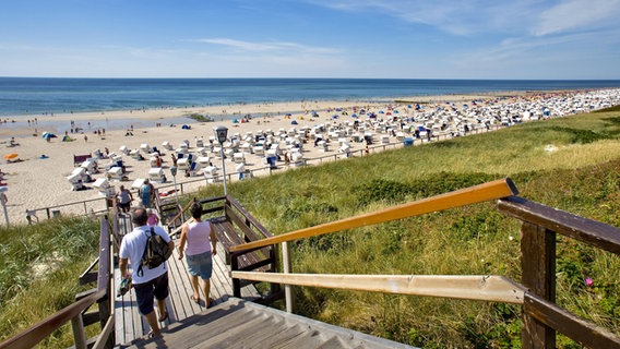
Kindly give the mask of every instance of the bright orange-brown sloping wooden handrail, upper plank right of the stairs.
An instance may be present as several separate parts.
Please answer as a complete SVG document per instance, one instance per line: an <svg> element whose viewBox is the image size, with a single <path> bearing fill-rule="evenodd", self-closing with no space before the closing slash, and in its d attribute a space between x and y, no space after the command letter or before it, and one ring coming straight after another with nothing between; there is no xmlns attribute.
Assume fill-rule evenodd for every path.
<svg viewBox="0 0 620 349"><path fill-rule="evenodd" d="M413 203L402 204L385 209L375 210L356 217L345 218L315 227L309 227L288 233L266 238L260 241L248 242L241 245L231 246L230 251L242 251L270 244L276 244L284 241L294 241L302 238L320 236L329 232L335 232L346 229L353 229L363 226L375 225L394 219L402 219L424 215L432 212L443 210L448 208L461 207L489 200L506 197L517 193L514 183L510 178L501 179L480 185L475 185L454 192L437 195Z"/></svg>

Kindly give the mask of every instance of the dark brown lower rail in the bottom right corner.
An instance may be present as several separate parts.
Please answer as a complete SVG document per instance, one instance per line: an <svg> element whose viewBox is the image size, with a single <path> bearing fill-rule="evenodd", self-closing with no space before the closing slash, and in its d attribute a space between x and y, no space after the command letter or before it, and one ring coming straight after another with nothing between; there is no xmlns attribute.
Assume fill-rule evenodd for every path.
<svg viewBox="0 0 620 349"><path fill-rule="evenodd" d="M620 337L596 326L536 294L525 294L524 312L540 323L557 328L586 348L620 348Z"/></svg>

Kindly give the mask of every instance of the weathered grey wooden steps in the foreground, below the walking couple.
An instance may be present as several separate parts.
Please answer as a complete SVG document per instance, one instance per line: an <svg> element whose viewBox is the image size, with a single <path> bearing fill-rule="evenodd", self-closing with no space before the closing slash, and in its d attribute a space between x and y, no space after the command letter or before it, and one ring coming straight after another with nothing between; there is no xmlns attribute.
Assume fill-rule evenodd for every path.
<svg viewBox="0 0 620 349"><path fill-rule="evenodd" d="M163 336L128 348L414 348L272 308L229 298L203 314L170 324Z"/></svg>

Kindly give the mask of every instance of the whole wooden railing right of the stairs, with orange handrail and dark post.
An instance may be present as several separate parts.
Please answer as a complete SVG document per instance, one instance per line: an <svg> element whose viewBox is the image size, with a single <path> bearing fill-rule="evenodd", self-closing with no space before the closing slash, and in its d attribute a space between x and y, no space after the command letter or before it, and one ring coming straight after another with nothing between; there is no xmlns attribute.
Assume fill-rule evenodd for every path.
<svg viewBox="0 0 620 349"><path fill-rule="evenodd" d="M514 196L510 181L500 180L358 217L300 229L230 248L259 249L266 244L342 231L431 212L498 200L499 209L522 224L522 281L502 276L312 275L231 272L234 279L279 282L397 294L418 294L523 304L522 347L555 348L556 332L587 348L620 348L620 337L558 306L556 302L556 234L620 254L620 229ZM283 251L286 249L283 248ZM288 301L287 301L288 309Z"/></svg>

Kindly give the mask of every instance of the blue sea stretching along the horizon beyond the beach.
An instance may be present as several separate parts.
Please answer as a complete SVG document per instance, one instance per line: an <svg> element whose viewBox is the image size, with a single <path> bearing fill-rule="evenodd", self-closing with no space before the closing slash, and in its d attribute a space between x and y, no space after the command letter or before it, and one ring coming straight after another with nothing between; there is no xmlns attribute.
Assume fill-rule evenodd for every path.
<svg viewBox="0 0 620 349"><path fill-rule="evenodd" d="M388 101L404 96L609 87L620 87L620 80L0 77L0 119L23 121L53 113L144 108L302 100ZM167 122L191 122L183 119L187 120ZM127 122L132 120L107 127L122 128Z"/></svg>

